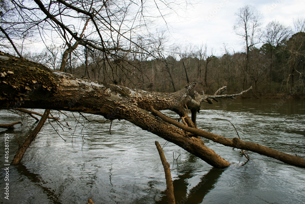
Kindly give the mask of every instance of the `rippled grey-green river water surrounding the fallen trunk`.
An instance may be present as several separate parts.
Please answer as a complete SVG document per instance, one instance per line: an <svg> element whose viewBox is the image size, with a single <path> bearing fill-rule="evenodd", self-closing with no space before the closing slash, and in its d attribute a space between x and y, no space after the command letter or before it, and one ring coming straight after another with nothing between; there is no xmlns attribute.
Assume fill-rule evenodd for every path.
<svg viewBox="0 0 305 204"><path fill-rule="evenodd" d="M198 128L233 138L236 131L230 121L242 140L305 158L303 100L223 99L203 104L201 109ZM171 111L163 113L176 117ZM167 203L163 166L154 143L157 140L163 146L165 140L127 121L113 121L110 134L109 122L89 123L78 113L67 113L67 117L55 111L52 114L72 128L62 130L51 121L66 142L46 123L21 164L9 166L9 200L4 199L4 135L9 134L12 161L35 120L6 110L0 114L2 124L23 120L14 130L0 128L1 203L84 204L88 198L95 204ZM243 165L247 159L239 150L203 140L232 165L212 168L167 143L163 150L170 163L176 203L305 203L305 169L252 152Z"/></svg>

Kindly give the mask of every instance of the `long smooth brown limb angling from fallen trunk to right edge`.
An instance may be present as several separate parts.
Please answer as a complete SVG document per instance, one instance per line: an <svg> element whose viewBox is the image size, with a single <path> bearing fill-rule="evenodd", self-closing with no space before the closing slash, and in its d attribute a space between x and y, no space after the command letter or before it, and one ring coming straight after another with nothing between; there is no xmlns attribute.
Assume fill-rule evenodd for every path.
<svg viewBox="0 0 305 204"><path fill-rule="evenodd" d="M286 153L283 153L283 152L280 152L280 151L277 151L277 150L274 150L269 147L265 147L263 145L259 145L256 143L245 142L245 141L240 140L237 137L235 137L233 139L228 139L226 137L216 135L216 134L213 134L210 132L206 132L206 131L198 129L198 128L191 128L182 123L179 123L178 121L171 119L170 117L167 117L160 111L156 111L155 109L153 109L153 107L151 107L151 111L152 111L153 115L160 117L162 120L164 120L170 124L173 124L173 125L177 126L178 128L181 128L182 130L185 130L187 132L199 135L206 139L210 139L213 142L220 143L220 144L223 144L228 147L235 147L238 149L253 151L253 152L265 155L267 157L277 159L286 164L305 168L305 159L303 159L301 157L297 157L297 156L294 156L291 154L286 154Z"/></svg>

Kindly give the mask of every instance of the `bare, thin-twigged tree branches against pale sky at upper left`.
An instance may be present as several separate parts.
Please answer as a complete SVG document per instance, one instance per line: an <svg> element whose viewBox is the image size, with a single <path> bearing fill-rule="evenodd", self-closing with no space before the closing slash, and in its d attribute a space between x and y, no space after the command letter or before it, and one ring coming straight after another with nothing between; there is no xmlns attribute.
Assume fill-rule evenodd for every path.
<svg viewBox="0 0 305 204"><path fill-rule="evenodd" d="M92 70L94 66L90 66L88 58L99 51L104 68L109 68L105 74L112 83L120 81L123 75L129 79L127 83L145 85L145 70L135 68L137 65L132 65L131 59L155 57L155 33L151 28L155 28L156 23L166 25L166 15L183 9L185 4L188 0L166 4L162 0L3 0L0 3L0 27L3 28L0 46L10 50L11 45L16 44L18 53L27 43L39 42L45 47L52 44L64 50L62 59L58 59L61 71L71 69L67 67L69 61L77 59L84 65L86 77L90 77L89 69L93 75L99 75ZM137 80L131 77L135 69ZM115 76L118 70L119 77Z"/></svg>

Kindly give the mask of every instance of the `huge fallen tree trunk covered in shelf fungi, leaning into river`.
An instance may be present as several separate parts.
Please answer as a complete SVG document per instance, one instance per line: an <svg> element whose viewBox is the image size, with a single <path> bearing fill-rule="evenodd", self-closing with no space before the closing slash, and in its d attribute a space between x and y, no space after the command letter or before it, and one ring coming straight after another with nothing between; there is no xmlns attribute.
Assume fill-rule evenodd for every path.
<svg viewBox="0 0 305 204"><path fill-rule="evenodd" d="M148 111L150 107L173 110L180 115L186 127L196 127L196 121L194 123L188 117L184 107L199 111L201 101L231 95L202 95L196 101L196 98L194 100L188 96L195 83L189 83L174 93L149 92L50 70L1 52L0 56L0 108L66 110L102 115L109 120L125 119L178 145L213 167L230 165L206 147L198 134L189 134L189 131L181 130Z"/></svg>

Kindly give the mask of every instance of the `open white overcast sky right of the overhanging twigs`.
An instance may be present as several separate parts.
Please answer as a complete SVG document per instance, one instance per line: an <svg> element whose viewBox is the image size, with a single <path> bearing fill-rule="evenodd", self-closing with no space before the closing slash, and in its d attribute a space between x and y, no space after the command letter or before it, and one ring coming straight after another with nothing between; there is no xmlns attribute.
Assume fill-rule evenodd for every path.
<svg viewBox="0 0 305 204"><path fill-rule="evenodd" d="M272 20L278 20L294 29L293 18L305 16L304 0L202 0L192 10L188 10L190 18L172 17L168 20L171 35L177 39L177 43L207 43L217 56L224 54L223 43L231 52L233 49L235 52L242 51L244 41L233 32L233 25L236 20L234 14L245 3L263 14L264 26Z"/></svg>

